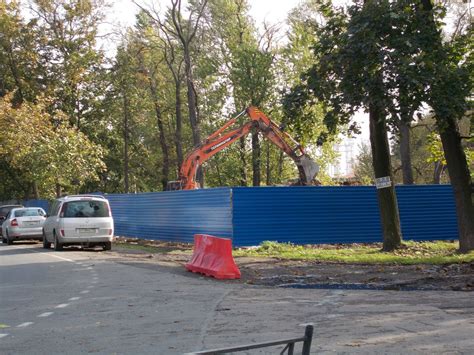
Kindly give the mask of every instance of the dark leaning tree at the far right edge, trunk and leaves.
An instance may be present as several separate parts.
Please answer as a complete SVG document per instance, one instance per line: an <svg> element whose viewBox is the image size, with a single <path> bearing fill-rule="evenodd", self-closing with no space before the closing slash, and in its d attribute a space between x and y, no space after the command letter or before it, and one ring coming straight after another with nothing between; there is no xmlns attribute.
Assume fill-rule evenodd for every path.
<svg viewBox="0 0 474 355"><path fill-rule="evenodd" d="M474 250L474 206L472 180L462 148L458 121L468 109L467 98L472 93L472 52L467 52L472 39L472 27L454 43L443 43L437 22L440 8L430 0L421 0L416 12L423 20L423 33L428 37L423 48L425 61L430 63L432 75L427 80L428 102L436 115L441 142L454 190L459 226L459 250Z"/></svg>

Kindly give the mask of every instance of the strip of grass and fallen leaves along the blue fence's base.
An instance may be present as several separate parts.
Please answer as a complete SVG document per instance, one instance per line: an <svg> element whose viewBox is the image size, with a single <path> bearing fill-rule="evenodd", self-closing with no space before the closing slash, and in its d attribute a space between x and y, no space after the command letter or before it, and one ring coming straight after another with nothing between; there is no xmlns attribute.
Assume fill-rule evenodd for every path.
<svg viewBox="0 0 474 355"><path fill-rule="evenodd" d="M233 256L356 264L442 265L474 262L474 252L461 254L458 253L458 248L457 241L406 241L400 249L393 252L382 251L382 243L295 245L265 241L257 247L236 248ZM189 257L192 249L192 244L135 238L119 238L114 244L114 250L119 252L187 255Z"/></svg>

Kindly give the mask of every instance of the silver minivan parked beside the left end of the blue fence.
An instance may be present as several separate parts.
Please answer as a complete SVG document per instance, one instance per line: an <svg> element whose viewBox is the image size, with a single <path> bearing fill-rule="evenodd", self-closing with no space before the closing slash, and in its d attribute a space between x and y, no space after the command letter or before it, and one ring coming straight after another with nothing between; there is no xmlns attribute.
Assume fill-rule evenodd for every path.
<svg viewBox="0 0 474 355"><path fill-rule="evenodd" d="M67 245L112 248L114 221L109 201L96 195L72 195L54 201L43 225L43 247Z"/></svg>

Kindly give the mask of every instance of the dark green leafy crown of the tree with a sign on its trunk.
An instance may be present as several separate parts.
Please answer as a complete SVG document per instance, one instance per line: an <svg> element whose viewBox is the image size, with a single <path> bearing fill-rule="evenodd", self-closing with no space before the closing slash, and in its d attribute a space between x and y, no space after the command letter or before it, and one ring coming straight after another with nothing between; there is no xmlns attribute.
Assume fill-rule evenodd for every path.
<svg viewBox="0 0 474 355"><path fill-rule="evenodd" d="M430 101L427 88L434 90L433 84L445 80L443 77L448 74L437 71L435 56L420 51L431 45L433 34L419 30L427 19L416 11L417 6L417 1L357 1L346 13L322 3L319 9L325 22L314 24L315 64L304 73L303 83L286 96L287 111L304 117L301 108L323 102L324 122L333 132L336 127L347 125L355 111L367 110L371 103L395 124L400 115L406 116L421 102ZM442 13L441 8L437 10ZM460 58L465 52L453 48L450 53ZM464 74L465 69L450 74L456 78L446 77L452 84L444 92L446 98L465 92L468 81ZM460 85L455 84L457 80ZM434 104L435 100L431 101ZM436 101L439 105L440 101ZM457 112L465 110L461 102L452 102L448 107ZM349 129L356 127L351 125Z"/></svg>

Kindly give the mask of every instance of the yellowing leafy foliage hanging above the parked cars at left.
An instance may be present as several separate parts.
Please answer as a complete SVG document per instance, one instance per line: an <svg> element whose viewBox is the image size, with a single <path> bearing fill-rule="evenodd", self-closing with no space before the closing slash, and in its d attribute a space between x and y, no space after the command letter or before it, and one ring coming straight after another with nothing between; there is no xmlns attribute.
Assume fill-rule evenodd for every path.
<svg viewBox="0 0 474 355"><path fill-rule="evenodd" d="M105 170L102 147L69 126L61 112L48 113L49 102L12 106L11 95L0 99L0 159L22 178L36 183L44 196L56 185L75 191Z"/></svg>

